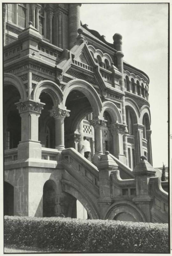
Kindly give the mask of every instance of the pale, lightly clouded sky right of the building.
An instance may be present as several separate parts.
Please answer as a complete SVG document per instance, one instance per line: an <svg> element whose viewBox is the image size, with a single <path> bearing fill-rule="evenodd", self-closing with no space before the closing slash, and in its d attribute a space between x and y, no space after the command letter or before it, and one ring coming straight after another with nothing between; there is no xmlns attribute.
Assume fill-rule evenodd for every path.
<svg viewBox="0 0 172 256"><path fill-rule="evenodd" d="M124 60L150 79L153 167L168 166L168 4L82 4L82 24L113 43L123 36Z"/></svg>

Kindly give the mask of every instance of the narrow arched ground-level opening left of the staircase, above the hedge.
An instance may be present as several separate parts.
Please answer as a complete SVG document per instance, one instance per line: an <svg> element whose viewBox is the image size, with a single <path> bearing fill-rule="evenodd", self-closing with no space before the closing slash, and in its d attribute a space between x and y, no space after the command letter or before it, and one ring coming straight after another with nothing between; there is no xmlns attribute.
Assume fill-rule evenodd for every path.
<svg viewBox="0 0 172 256"><path fill-rule="evenodd" d="M57 216L57 188L53 180L47 180L43 187L43 217Z"/></svg>

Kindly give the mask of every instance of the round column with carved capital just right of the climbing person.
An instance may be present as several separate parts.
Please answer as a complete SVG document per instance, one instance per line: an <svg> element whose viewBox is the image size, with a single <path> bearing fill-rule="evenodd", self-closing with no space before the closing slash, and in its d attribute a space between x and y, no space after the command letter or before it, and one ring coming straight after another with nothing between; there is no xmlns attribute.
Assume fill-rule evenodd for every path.
<svg viewBox="0 0 172 256"><path fill-rule="evenodd" d="M95 154L93 162L96 165L98 163L98 157L103 154L103 137L102 127L105 124L105 120L93 119L90 120L90 125L94 127L94 142L95 142Z"/></svg>

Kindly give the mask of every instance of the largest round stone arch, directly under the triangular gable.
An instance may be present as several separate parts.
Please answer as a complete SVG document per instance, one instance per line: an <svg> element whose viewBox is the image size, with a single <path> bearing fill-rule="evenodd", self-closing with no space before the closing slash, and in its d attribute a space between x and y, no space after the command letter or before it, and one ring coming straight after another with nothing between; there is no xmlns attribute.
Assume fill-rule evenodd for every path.
<svg viewBox="0 0 172 256"><path fill-rule="evenodd" d="M102 117L101 116L101 110L102 110L102 102L97 94L96 90L86 81L84 80L72 80L68 82L67 86L64 89L63 92L63 105L66 104L66 99L68 97L68 94L73 91L78 90L82 92L87 99L90 102L90 105L92 107L92 111L94 113L95 118Z"/></svg>

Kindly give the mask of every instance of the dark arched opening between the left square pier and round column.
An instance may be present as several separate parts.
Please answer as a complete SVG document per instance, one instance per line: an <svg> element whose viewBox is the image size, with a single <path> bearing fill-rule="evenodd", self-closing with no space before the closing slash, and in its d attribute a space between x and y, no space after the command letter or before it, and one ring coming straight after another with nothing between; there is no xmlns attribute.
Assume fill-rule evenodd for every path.
<svg viewBox="0 0 172 256"><path fill-rule="evenodd" d="M55 120L49 112L53 108L53 100L46 92L42 92L39 99L45 103L39 117L39 140L42 147L55 148Z"/></svg>

